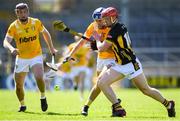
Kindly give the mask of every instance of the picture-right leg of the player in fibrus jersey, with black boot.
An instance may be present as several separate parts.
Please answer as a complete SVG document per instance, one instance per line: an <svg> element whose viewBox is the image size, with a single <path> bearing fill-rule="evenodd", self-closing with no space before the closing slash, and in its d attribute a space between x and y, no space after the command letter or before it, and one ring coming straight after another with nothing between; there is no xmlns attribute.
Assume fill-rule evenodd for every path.
<svg viewBox="0 0 180 121"><path fill-rule="evenodd" d="M43 64L37 63L34 64L32 67L32 72L37 82L37 86L41 92L41 109L42 111L46 111L48 108L46 96L45 96L45 81L43 79L44 69Z"/></svg>

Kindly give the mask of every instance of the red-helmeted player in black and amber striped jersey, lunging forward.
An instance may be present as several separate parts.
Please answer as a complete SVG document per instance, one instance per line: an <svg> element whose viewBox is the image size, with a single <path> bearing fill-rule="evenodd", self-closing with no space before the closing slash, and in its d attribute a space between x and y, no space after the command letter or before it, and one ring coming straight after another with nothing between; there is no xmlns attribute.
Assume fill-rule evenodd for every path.
<svg viewBox="0 0 180 121"><path fill-rule="evenodd" d="M97 85L112 103L112 116L121 116L121 106L111 84L126 77L132 80L143 94L162 103L166 107L169 117L175 117L175 102L167 100L157 89L148 85L142 65L133 51L127 28L124 24L118 22L117 9L108 7L103 10L102 20L105 26L111 28L111 30L98 51L106 51L112 48L115 53L116 64L99 77Z"/></svg>

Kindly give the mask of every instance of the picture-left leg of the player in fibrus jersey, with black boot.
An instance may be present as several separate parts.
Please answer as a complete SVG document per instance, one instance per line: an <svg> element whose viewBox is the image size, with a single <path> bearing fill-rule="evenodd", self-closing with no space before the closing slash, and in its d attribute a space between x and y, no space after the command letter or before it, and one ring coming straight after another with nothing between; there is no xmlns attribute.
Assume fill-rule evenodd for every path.
<svg viewBox="0 0 180 121"><path fill-rule="evenodd" d="M24 102L24 80L25 80L26 74L27 74L26 72L14 73L16 95L20 102L19 112L24 112L26 110L26 105Z"/></svg>

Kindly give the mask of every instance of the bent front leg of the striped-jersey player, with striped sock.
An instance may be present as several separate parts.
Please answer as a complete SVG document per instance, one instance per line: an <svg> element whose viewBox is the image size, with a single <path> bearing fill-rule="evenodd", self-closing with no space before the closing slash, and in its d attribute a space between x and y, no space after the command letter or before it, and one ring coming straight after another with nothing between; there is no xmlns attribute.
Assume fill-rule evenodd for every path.
<svg viewBox="0 0 180 121"><path fill-rule="evenodd" d="M126 115L126 111L120 105L120 101L117 99L114 91L111 88L111 84L124 78L124 75L110 68L104 72L98 79L97 85L112 103L112 116L123 117Z"/></svg>

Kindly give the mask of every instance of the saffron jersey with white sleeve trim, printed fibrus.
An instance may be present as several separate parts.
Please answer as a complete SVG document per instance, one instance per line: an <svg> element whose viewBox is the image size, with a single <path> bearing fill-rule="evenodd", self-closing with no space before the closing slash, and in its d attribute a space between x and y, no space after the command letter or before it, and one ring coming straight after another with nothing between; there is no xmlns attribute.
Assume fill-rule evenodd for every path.
<svg viewBox="0 0 180 121"><path fill-rule="evenodd" d="M31 59L42 54L39 34L44 26L40 20L28 17L28 23L23 25L15 20L8 28L6 36L13 38L19 49L19 58Z"/></svg>

